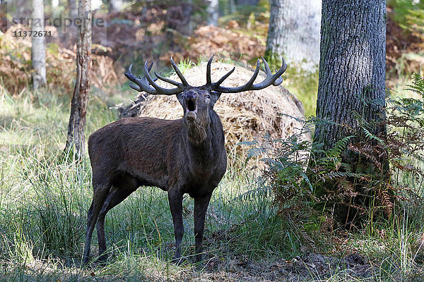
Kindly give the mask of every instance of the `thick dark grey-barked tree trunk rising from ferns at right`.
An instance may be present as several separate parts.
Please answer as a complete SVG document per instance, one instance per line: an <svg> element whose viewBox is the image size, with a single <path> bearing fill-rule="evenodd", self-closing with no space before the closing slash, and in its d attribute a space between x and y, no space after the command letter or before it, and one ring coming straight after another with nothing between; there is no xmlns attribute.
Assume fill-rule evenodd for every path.
<svg viewBox="0 0 424 282"><path fill-rule="evenodd" d="M365 131L362 127L385 137L385 41L385 1L322 1L317 99L319 122L316 123L314 143L322 144L324 151L328 152L338 140L350 135L356 136L350 142L367 142L367 148L371 148L373 144L363 137ZM366 171L373 178L377 176L377 172L372 172L375 170L372 159L361 158L350 149L345 149L341 154L342 161L349 166L341 166L340 172ZM385 183L389 174L384 152L377 159L382 164L382 171L378 174L379 183ZM370 188L371 192L365 189L370 185L369 180L347 174L341 181L333 182L332 179L323 184L323 190L323 187L317 187L316 192L317 195L324 193L329 198L341 197L341 200L334 202L334 215L338 223L356 225L361 211L372 208L374 202L376 206L381 204L377 203L379 198L375 197L378 195L375 192L379 192L377 190L380 188ZM351 184L346 185L346 190L340 190L347 182ZM386 189L384 184L381 185L382 190Z"/></svg>

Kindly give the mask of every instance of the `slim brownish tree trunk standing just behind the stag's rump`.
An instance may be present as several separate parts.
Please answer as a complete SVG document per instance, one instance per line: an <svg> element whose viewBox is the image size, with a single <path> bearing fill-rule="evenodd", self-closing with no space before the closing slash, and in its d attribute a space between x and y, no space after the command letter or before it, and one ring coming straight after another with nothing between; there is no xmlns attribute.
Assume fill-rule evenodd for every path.
<svg viewBox="0 0 424 282"><path fill-rule="evenodd" d="M65 152L73 152L73 156L82 159L86 137L86 113L90 81L88 71L90 69L91 51L91 1L78 1L78 18L81 25L78 27L78 40L76 43L76 84L73 89L71 102L71 116L68 125L68 140Z"/></svg>

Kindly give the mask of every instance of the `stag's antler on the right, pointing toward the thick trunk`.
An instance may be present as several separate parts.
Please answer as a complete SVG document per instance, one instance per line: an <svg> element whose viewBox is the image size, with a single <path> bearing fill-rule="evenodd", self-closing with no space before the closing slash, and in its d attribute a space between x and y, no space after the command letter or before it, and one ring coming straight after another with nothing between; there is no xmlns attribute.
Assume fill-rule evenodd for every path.
<svg viewBox="0 0 424 282"><path fill-rule="evenodd" d="M206 85L211 86L211 89L216 91L216 92L220 92L220 93L237 93L237 92L243 92L243 91L247 91L247 90L260 90L263 89L265 87L268 87L269 85L281 85L281 82L283 82L283 78L281 78L281 75L285 72L285 70L287 69L287 64L285 63L284 59L283 59L283 63L281 64L281 68L276 71L275 75L272 75L271 70L269 69L268 63L266 63L266 60L262 57L262 61L264 61L264 65L265 68L262 68L262 71L264 71L266 73L266 78L258 83L258 84L253 84L254 80L256 80L258 74L259 74L259 69L260 69L260 61L258 59L257 61L257 67L254 70L254 73L252 75L252 78L250 78L250 80L242 86L239 87L222 87L220 86L220 84L226 80L228 78L228 76L230 76L231 73L233 73L235 71L235 67L232 68L231 71L229 71L228 73L226 73L222 78L220 78L220 80L218 80L217 82L212 82L211 81L211 63L213 60L213 55L211 56L211 59L209 59L208 61L208 66L206 68Z"/></svg>

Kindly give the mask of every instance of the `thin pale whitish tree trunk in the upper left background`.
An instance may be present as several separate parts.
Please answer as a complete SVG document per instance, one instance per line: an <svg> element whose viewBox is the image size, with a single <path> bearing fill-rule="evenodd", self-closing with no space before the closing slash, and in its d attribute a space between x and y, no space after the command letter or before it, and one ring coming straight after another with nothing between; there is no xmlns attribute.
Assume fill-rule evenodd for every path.
<svg viewBox="0 0 424 282"><path fill-rule="evenodd" d="M33 87L37 90L46 84L46 40L44 36L44 4L33 0L33 23L31 31L31 57L33 61Z"/></svg>

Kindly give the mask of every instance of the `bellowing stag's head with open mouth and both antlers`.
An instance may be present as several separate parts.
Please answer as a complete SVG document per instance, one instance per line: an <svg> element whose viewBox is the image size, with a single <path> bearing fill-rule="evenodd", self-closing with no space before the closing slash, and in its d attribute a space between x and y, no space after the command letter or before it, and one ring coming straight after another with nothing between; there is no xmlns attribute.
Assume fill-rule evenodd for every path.
<svg viewBox="0 0 424 282"><path fill-rule="evenodd" d="M179 104L181 104L182 108L184 109L184 119L187 121L187 123L195 122L199 119L203 121L204 123L210 123L209 113L211 110L213 110L213 106L215 105L216 101L218 101L221 93L237 93L237 92L243 92L247 90L260 90L265 87L268 87L269 85L280 85L281 82L283 82L283 78L281 78L281 75L285 72L285 69L287 68L287 65L285 64L285 61L283 59L283 64L281 68L276 71L276 74L272 75L271 70L269 69L268 63L266 63L265 59L262 58L264 61L264 66L262 70L266 73L266 78L258 83L254 84L254 80L256 80L258 74L259 74L259 59L257 60L257 67L254 71L254 74L252 75L252 78L242 86L239 87L222 87L220 86L225 79L228 78L228 76L231 75L235 71L235 67L232 68L231 71L226 73L220 80L217 82L212 82L211 80L211 63L213 61L213 55L211 56L211 59L208 61L208 65L206 67L206 85L194 87L189 85L187 80L184 78L184 75L182 75L181 71L177 68L177 65L172 60L172 57L170 58L172 68L174 68L175 73L177 73L179 79L181 82L177 82L175 80L170 80L169 78L164 78L160 73L155 72L156 78L152 78L150 75L151 68L153 66L153 63L148 67L147 62L144 63L144 76L141 77L139 75L139 78L136 78L131 73L131 66L129 66L128 73L125 73L126 78L128 78L131 82L129 86L137 91L144 91L149 94L164 94L164 95L172 95L176 94L177 99L179 101ZM155 81L156 80L163 80L165 82L170 83L171 85L174 85L174 88L163 88L160 87Z"/></svg>

